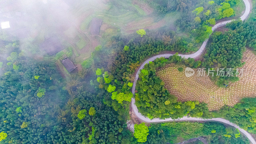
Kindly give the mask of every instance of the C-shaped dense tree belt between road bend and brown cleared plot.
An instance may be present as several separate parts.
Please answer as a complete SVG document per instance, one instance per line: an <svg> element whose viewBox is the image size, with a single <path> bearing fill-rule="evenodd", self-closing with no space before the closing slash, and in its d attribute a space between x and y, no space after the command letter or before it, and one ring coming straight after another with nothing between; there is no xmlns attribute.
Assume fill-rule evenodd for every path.
<svg viewBox="0 0 256 144"><path fill-rule="evenodd" d="M156 76L156 68L167 63L180 62L180 56L174 55L169 59L160 58L149 62L141 70L137 81L135 94L136 106L139 111L149 118L177 119L186 115L192 117L209 117L205 103L198 101L179 102L174 95L164 88L164 82Z"/></svg>

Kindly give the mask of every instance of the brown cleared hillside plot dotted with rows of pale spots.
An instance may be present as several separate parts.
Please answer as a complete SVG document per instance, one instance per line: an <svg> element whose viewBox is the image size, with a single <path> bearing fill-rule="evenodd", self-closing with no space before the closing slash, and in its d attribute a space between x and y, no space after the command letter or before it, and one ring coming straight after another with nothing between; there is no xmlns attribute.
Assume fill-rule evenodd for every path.
<svg viewBox="0 0 256 144"><path fill-rule="evenodd" d="M210 77L186 77L185 72L179 72L178 66L168 64L156 72L165 83L165 88L179 101L198 100L208 104L209 110L218 110L224 105L234 106L244 97L256 96L256 56L250 50L244 52L242 61L243 76L227 88L220 88L212 82ZM195 72L197 69L194 69Z"/></svg>

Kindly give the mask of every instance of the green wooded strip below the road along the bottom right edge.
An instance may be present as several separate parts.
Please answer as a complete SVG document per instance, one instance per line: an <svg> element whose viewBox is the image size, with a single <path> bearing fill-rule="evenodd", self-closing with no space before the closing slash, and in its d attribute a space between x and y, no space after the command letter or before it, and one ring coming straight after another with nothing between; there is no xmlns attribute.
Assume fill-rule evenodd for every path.
<svg viewBox="0 0 256 144"><path fill-rule="evenodd" d="M225 127L223 124L175 122L152 124L149 127L149 135L146 143L165 144L178 143L180 139L188 140L203 136L207 142L232 143L232 144L249 144L250 142L240 134L237 129Z"/></svg>

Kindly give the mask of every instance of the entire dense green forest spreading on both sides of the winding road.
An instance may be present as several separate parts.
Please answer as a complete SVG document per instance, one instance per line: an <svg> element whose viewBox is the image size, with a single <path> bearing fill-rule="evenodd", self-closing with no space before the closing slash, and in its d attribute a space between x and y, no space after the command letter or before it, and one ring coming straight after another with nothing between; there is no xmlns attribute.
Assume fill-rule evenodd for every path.
<svg viewBox="0 0 256 144"><path fill-rule="evenodd" d="M205 103L177 101L156 76L156 70L168 63L184 64L191 68L241 67L245 46L256 50L255 22L233 21L227 25L229 31L214 33L203 61L183 59L175 54L145 65L133 96L134 72L142 61L163 51L195 51L196 45L212 33L210 28L215 21L233 15L230 8L239 1L210 1L203 4L193 0L177 3L164 1L161 4L158 0L153 2L158 3L156 14L183 12L177 20L178 31L187 32L191 39L177 36L176 32L164 28L147 33L138 31L140 35L125 38L114 36L105 46L97 46L92 57L82 63L84 69L67 80L60 76L54 58L29 58L24 50L19 50L18 41L5 41L2 36L4 43L1 46L4 45L4 48L0 52L12 52L8 53L7 65L0 62L0 68L4 71L0 78L0 141L174 143L203 136L211 143L249 143L236 129L218 123L182 122L151 126L142 123L135 125L134 133L126 128L126 120L130 119L131 98L135 97L139 111L149 118L187 115L223 117L248 132L256 133L255 98L244 98L234 107L224 106L220 111L209 112ZM237 79L214 77L213 80L221 85Z"/></svg>

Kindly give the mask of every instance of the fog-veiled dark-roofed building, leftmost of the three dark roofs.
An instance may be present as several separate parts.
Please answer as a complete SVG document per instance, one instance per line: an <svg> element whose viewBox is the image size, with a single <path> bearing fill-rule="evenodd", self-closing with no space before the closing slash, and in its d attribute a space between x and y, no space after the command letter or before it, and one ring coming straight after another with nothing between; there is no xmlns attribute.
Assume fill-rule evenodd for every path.
<svg viewBox="0 0 256 144"><path fill-rule="evenodd" d="M57 36L52 36L40 44L40 48L46 51L49 55L54 55L63 50L64 46L60 43Z"/></svg>

